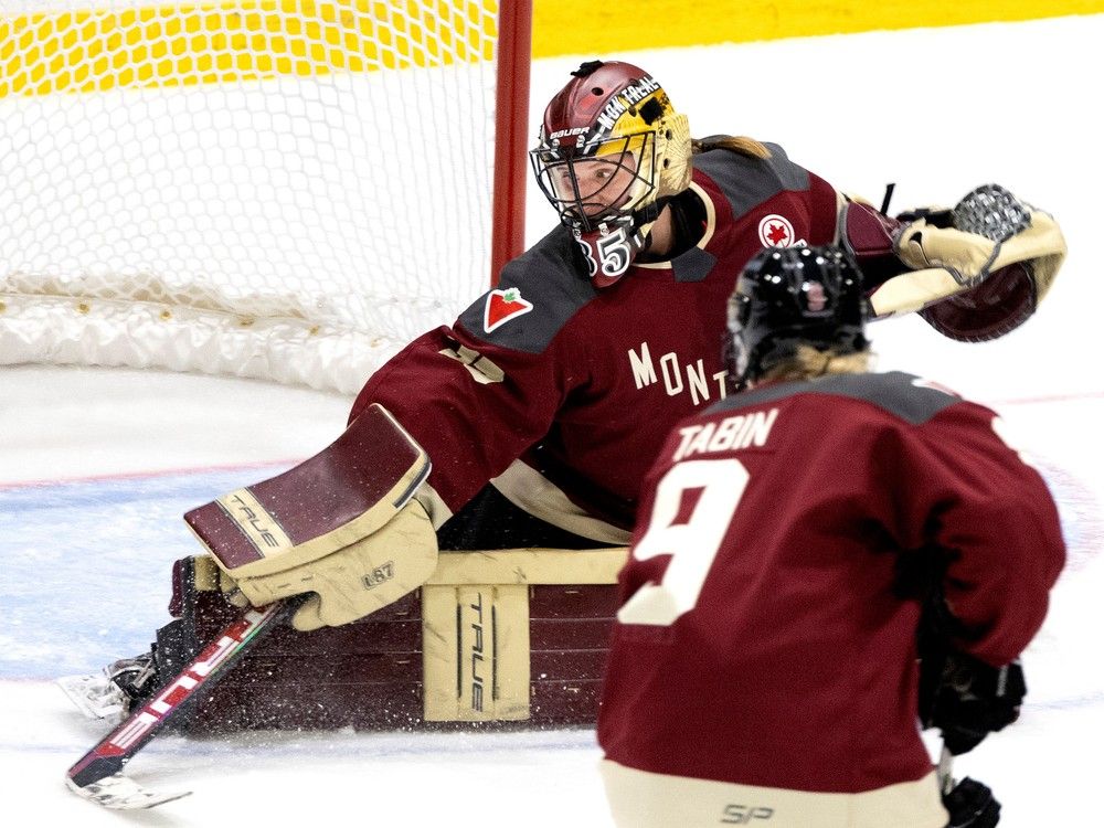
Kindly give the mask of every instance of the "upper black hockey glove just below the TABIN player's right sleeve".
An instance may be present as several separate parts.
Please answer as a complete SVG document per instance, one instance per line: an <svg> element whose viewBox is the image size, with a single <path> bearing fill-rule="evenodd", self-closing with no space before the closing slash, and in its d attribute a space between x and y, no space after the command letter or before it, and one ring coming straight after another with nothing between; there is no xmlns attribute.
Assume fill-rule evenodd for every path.
<svg viewBox="0 0 1104 828"><path fill-rule="evenodd" d="M922 661L922 687L924 669ZM1027 694L1023 669L1018 661L990 667L964 652L951 652L943 664L942 676L933 683L935 694L922 712L923 725L938 728L943 743L956 756L974 750L989 733L1019 719L1020 704Z"/></svg>

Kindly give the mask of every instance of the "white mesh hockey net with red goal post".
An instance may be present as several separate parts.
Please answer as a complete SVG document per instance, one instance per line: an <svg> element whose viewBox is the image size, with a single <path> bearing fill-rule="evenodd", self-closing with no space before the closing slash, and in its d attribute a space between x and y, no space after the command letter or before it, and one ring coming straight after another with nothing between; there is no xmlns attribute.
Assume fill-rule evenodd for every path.
<svg viewBox="0 0 1104 828"><path fill-rule="evenodd" d="M501 6L0 0L0 363L355 392L520 244Z"/></svg>

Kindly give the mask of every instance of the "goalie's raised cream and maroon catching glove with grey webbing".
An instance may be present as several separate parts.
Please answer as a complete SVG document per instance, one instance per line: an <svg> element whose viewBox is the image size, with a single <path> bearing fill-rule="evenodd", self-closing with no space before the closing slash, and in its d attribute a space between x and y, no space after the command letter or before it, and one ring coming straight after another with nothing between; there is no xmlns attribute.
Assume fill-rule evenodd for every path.
<svg viewBox="0 0 1104 828"><path fill-rule="evenodd" d="M878 317L919 311L944 336L985 341L1034 312L1065 258L1048 213L998 184L984 184L953 209L898 216L893 251L911 268L870 297Z"/></svg>

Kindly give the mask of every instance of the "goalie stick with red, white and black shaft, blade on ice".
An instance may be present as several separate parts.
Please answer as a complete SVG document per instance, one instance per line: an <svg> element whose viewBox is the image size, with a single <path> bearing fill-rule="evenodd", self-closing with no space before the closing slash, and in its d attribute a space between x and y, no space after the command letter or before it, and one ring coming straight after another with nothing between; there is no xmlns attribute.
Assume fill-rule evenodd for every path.
<svg viewBox="0 0 1104 828"><path fill-rule="evenodd" d="M123 776L123 767L181 711L194 704L268 631L291 617L309 595L245 611L188 662L153 698L135 710L79 762L65 784L77 796L114 810L152 808L191 792L159 794Z"/></svg>

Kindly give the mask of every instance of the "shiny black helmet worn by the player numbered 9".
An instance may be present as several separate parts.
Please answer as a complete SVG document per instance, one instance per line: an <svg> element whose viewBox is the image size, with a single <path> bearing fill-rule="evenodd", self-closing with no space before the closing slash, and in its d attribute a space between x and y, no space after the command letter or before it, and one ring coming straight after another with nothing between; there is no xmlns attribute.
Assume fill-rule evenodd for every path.
<svg viewBox="0 0 1104 828"><path fill-rule="evenodd" d="M839 354L866 350L862 275L840 248L767 247L729 299L725 362L743 389L805 344Z"/></svg>

